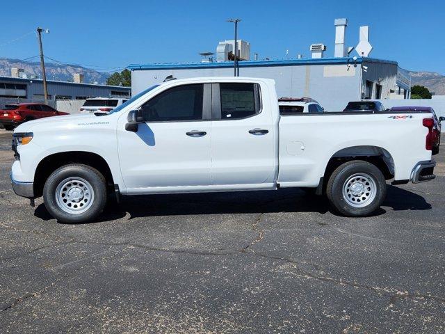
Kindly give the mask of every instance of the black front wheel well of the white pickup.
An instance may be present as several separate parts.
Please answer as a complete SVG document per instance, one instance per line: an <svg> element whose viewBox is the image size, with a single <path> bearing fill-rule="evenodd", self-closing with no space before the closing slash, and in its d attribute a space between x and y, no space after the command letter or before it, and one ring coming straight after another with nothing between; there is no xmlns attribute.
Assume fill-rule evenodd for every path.
<svg viewBox="0 0 445 334"><path fill-rule="evenodd" d="M45 157L37 166L34 175L35 197L42 196L44 182L57 168L67 164L84 164L96 168L104 175L107 187L113 189L113 175L105 159L92 152L60 152Z"/></svg>

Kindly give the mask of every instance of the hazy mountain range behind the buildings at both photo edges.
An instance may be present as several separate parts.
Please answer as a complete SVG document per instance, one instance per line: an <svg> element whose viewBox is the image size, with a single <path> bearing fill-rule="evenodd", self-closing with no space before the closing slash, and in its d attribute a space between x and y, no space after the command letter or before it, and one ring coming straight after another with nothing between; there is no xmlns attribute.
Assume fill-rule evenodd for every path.
<svg viewBox="0 0 445 334"><path fill-rule="evenodd" d="M19 61L18 59L0 58L0 76L10 77L11 67L19 67L28 75L41 77L40 62ZM48 80L72 81L74 73L84 74L84 82L105 84L111 73L98 72L79 65L63 65L45 62ZM415 72L404 70L412 80L412 86L425 86L435 95L445 95L445 76L435 72Z"/></svg>

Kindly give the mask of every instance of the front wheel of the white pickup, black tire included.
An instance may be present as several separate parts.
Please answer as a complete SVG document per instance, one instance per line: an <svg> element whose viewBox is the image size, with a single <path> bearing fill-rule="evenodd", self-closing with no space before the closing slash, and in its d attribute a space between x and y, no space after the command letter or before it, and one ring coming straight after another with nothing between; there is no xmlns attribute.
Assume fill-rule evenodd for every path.
<svg viewBox="0 0 445 334"><path fill-rule="evenodd" d="M85 183L85 185L82 183ZM63 187L63 184L68 186ZM59 186L60 189L58 188ZM66 197L58 196L59 193L62 193L63 196L65 189L67 191ZM74 200L70 197L70 191L73 189L75 191L74 195L76 195ZM80 195L79 189L81 190ZM83 193L83 189L86 190L85 193ZM51 216L54 216L62 223L86 223L94 220L104 209L106 198L104 175L95 168L82 164L69 164L54 170L43 187L45 207ZM66 200L68 200L67 203ZM84 200L86 207L82 208ZM87 207L88 209L86 209ZM80 212L75 212L74 210L79 210ZM81 212L81 210L86 211Z"/></svg>

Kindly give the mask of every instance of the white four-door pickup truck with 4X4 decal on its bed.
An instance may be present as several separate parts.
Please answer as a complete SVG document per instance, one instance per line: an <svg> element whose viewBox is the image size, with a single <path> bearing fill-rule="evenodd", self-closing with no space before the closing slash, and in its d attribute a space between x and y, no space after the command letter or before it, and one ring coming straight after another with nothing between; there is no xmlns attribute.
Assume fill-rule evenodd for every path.
<svg viewBox="0 0 445 334"><path fill-rule="evenodd" d="M303 187L346 216L375 212L393 184L432 180L432 115L285 113L270 79L166 81L109 114L59 116L13 134L13 189L63 222L108 196Z"/></svg>

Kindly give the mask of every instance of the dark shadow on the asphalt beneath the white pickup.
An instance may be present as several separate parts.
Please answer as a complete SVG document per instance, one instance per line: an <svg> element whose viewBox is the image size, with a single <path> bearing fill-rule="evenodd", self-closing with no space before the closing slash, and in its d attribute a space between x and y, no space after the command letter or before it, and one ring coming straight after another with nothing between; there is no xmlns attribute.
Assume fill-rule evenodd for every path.
<svg viewBox="0 0 445 334"><path fill-rule="evenodd" d="M387 200L383 207L393 210L428 210L431 205L425 198L388 186ZM130 214L129 219L152 216L176 216L196 214L254 214L275 212L332 212L325 197L310 196L300 189L279 191L246 191L233 193L196 193L124 197L120 205L110 203L96 222L113 221ZM375 215L385 214L380 209ZM332 212L332 214L336 214ZM336 214L337 215L337 214ZM35 209L35 216L52 219L44 205Z"/></svg>

